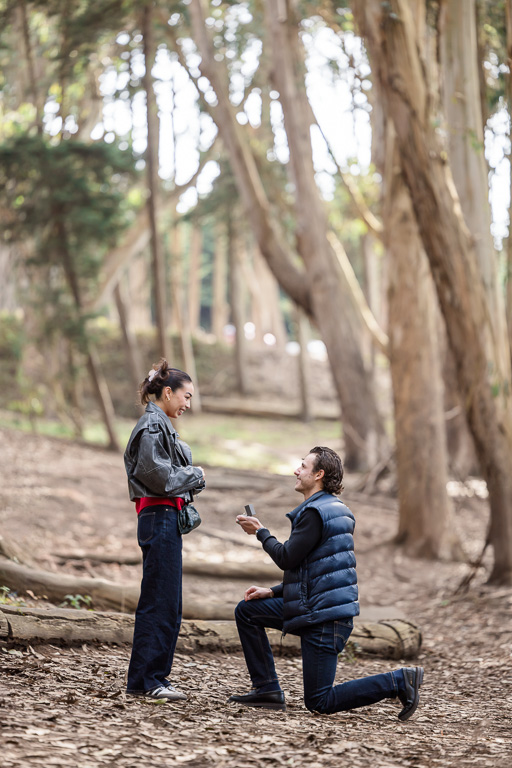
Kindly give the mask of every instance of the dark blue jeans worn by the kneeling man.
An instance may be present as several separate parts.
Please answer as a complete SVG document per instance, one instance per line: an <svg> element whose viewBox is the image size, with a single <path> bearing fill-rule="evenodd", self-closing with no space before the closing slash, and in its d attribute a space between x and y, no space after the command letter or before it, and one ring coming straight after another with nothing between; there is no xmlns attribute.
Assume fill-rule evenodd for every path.
<svg viewBox="0 0 512 768"><path fill-rule="evenodd" d="M240 642L254 688L279 688L265 627L283 628L283 598L240 602L235 609ZM300 635L304 703L314 712L332 714L395 698L404 687L401 670L350 680L333 687L338 654L352 632L352 619L313 624Z"/></svg>

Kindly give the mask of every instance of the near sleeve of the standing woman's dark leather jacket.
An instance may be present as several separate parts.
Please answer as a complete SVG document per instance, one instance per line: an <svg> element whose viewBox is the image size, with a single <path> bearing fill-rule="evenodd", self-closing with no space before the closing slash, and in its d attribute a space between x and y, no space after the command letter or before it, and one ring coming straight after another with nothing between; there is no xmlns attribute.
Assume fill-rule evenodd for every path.
<svg viewBox="0 0 512 768"><path fill-rule="evenodd" d="M144 430L142 433L133 475L155 496L180 496L204 488L199 467L173 463L163 447L161 432Z"/></svg>

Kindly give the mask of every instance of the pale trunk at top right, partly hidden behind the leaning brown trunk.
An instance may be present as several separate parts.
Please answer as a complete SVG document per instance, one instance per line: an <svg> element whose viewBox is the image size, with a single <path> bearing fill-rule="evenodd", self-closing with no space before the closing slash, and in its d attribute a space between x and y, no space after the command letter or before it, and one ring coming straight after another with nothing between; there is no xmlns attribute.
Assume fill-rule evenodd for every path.
<svg viewBox="0 0 512 768"><path fill-rule="evenodd" d="M442 103L448 137L448 156L462 214L473 236L476 258L483 277L487 304L491 312L492 333L497 334L496 353L500 377L510 379L510 354L506 341L507 325L504 295L498 279L498 255L491 235L489 168L484 154L484 124L475 0L445 0L440 9L440 59ZM484 83L485 87L485 83ZM485 99L484 99L485 101ZM492 348L491 328L486 345ZM501 340L500 340L501 339ZM454 378L453 364L447 361L447 390ZM456 450L458 471L465 476L474 470L474 449L460 397L447 391L446 409L454 414L447 428L450 445ZM460 415L459 415L460 409Z"/></svg>

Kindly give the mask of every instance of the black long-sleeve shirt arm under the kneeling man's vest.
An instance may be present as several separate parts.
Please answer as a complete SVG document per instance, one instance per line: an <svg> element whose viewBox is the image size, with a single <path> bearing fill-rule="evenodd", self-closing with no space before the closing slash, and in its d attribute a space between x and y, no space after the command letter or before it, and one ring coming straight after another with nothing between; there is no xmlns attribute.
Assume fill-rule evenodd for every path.
<svg viewBox="0 0 512 768"><path fill-rule="evenodd" d="M321 535L322 519L316 509L311 507L302 510L290 538L284 544L281 544L268 528L260 528L256 534L265 552L283 571L289 571L300 565L318 545ZM275 597L280 597L282 591L282 584L272 587Z"/></svg>

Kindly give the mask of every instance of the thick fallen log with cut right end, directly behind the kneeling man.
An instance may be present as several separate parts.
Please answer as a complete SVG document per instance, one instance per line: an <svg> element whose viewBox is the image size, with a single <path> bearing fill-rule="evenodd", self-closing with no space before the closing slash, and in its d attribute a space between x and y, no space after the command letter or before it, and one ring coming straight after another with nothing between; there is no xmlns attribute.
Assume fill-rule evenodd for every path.
<svg viewBox="0 0 512 768"><path fill-rule="evenodd" d="M131 643L133 616L123 613L71 608L32 608L2 605L0 640L35 645L52 643L75 645L84 642ZM268 630L274 651L300 655L300 638ZM403 619L369 622L357 619L347 644L351 653L365 653L391 659L412 659L421 647L418 627ZM184 620L178 639L178 651L240 651L240 640L234 621Z"/></svg>

